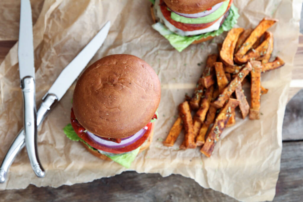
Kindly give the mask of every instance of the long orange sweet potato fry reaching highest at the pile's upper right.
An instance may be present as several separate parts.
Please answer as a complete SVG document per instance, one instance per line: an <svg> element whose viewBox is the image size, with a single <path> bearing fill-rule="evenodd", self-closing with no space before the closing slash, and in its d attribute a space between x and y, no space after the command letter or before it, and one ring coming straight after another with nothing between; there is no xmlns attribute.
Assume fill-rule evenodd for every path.
<svg viewBox="0 0 303 202"><path fill-rule="evenodd" d="M254 45L258 38L260 38L268 28L275 24L275 22L278 22L278 20L267 17L263 18L257 27L251 32L249 37L241 45L240 49L235 54L235 59L242 58L247 53L247 51L251 49L252 45Z"/></svg>

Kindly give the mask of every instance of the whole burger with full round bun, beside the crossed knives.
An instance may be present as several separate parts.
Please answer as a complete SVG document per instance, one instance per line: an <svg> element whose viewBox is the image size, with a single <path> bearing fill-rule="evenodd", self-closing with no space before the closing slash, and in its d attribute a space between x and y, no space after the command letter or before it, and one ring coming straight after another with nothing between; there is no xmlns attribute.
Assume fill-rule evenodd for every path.
<svg viewBox="0 0 303 202"><path fill-rule="evenodd" d="M64 133L96 157L130 167L152 141L160 96L159 78L145 61L106 56L78 79Z"/></svg>

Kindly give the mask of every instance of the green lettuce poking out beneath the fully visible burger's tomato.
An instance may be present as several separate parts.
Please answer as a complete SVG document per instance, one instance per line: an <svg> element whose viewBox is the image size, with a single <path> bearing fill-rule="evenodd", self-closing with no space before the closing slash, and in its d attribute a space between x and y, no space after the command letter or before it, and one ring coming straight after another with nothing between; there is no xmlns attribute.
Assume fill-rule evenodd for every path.
<svg viewBox="0 0 303 202"><path fill-rule="evenodd" d="M82 141L90 149L92 149L94 151L98 151L94 147L87 144L84 140L82 140L77 135L77 133L74 131L74 129L72 127L72 124L68 124L67 126L65 126L63 128L63 132L65 133L66 137L68 137L70 140L72 140L72 141ZM139 151L140 151L140 147L138 147L137 149L135 149L133 151L122 153L122 154L109 154L109 153L105 154L106 152L104 152L104 153L102 152L102 154L109 157L110 159L117 162L118 164L121 164L122 166L129 168L131 166L132 162L135 160L136 156L138 155Z"/></svg>

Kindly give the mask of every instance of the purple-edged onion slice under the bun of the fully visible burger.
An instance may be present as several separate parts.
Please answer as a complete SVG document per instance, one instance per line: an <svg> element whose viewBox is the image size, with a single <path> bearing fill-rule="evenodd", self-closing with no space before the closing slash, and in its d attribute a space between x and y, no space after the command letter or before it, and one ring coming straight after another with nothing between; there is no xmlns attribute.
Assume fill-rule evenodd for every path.
<svg viewBox="0 0 303 202"><path fill-rule="evenodd" d="M126 138L121 139L120 143L104 140L104 139L96 136L95 134L93 134L93 133L91 133L89 131L86 131L86 134L96 144L99 144L99 145L104 146L104 147L109 147L109 148L121 148L121 147L126 147L126 146L134 143L138 139L140 139L145 134L145 132L147 131L147 128L148 127L145 126L140 131L138 131L136 134L134 134L134 135L132 135L130 137L126 137Z"/></svg>

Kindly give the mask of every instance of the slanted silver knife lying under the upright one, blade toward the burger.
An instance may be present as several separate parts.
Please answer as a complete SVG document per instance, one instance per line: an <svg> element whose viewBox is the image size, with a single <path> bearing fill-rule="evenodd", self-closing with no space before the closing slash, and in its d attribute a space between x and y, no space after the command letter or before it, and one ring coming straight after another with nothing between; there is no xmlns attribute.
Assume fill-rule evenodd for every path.
<svg viewBox="0 0 303 202"><path fill-rule="evenodd" d="M42 123L48 112L54 108L55 104L63 97L68 88L101 47L108 35L109 28L110 22L108 21L82 51L65 67L65 69L63 69L51 88L43 96L42 103L37 111L38 126ZM15 140L12 142L2 161L0 167L0 183L5 182L9 167L24 146L25 134L22 129L15 137Z"/></svg>

